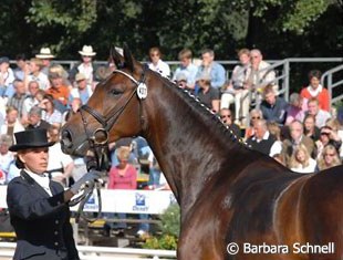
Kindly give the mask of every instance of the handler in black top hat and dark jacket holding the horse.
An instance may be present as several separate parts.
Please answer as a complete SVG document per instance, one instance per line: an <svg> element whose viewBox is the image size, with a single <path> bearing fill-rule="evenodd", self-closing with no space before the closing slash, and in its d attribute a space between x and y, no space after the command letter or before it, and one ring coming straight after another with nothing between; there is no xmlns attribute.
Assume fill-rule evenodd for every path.
<svg viewBox="0 0 343 260"><path fill-rule="evenodd" d="M11 223L17 235L14 260L79 260L70 222L70 199L86 181L100 178L90 171L70 189L50 180L48 167L49 143L46 129L30 129L14 134L15 164L19 177L8 185L7 204Z"/></svg>

